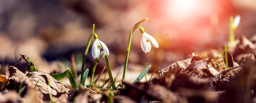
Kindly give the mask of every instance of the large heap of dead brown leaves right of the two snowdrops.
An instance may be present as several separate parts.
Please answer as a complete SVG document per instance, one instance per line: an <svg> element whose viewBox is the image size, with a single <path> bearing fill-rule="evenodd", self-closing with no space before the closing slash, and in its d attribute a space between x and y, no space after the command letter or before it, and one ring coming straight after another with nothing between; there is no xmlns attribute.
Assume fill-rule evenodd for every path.
<svg viewBox="0 0 256 103"><path fill-rule="evenodd" d="M221 54L205 58L192 54L159 71L159 79L135 84L122 81L126 89L121 94L134 102L255 102L256 46L242 36L233 51L228 52L228 69Z"/></svg>

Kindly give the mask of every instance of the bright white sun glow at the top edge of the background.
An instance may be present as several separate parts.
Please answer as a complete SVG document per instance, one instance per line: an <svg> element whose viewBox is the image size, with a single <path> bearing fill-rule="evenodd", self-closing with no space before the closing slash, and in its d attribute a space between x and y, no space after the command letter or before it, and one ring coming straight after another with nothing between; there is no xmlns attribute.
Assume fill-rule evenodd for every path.
<svg viewBox="0 0 256 103"><path fill-rule="evenodd" d="M169 19L182 22L184 19L211 16L217 7L215 0L166 0L162 5L163 13Z"/></svg>

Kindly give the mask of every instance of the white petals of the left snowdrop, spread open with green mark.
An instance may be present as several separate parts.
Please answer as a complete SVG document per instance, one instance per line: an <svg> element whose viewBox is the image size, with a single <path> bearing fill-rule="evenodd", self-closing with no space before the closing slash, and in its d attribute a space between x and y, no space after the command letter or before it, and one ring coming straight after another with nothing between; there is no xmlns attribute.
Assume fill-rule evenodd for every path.
<svg viewBox="0 0 256 103"><path fill-rule="evenodd" d="M101 54L101 48L103 48L103 51L109 56L107 45L99 39L95 39L94 43L92 44L92 57L94 59L99 58L99 55Z"/></svg>

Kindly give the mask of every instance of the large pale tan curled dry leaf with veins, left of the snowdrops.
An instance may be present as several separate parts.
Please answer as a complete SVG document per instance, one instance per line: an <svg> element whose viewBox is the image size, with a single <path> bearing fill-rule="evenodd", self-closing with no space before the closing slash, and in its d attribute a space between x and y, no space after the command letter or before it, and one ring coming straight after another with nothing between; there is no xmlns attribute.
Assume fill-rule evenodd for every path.
<svg viewBox="0 0 256 103"><path fill-rule="evenodd" d="M26 75L19 71L16 67L10 66L10 76L7 80L11 81L15 86L27 84L29 88L35 88L44 94L49 94L47 81L51 86L52 95L56 96L59 93L68 93L70 89L54 79L51 75L44 72L29 72Z"/></svg>

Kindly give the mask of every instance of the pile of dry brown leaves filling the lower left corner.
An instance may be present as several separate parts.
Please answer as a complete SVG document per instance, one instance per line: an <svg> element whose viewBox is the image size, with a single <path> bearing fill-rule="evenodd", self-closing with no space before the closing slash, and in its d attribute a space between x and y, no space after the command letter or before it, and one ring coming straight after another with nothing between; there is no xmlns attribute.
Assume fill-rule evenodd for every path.
<svg viewBox="0 0 256 103"><path fill-rule="evenodd" d="M5 81L5 77L3 81L3 77L1 77L0 83L4 84L4 86L1 85L1 88L6 88L6 90L16 90L17 92L21 93L22 97L27 97L25 94L28 93L26 92L29 90L33 90L34 92L31 92L30 94L34 94L34 97L27 97L28 99L24 101L33 99L38 102L49 102L49 89L47 84L47 81L49 81L51 92L54 97L53 100L55 100L56 102L67 102L68 94L70 94L71 92L70 89L55 80L49 74L39 71L22 73L20 70L13 66L10 66L9 73L10 75ZM39 92L37 92L36 90L38 90Z"/></svg>

